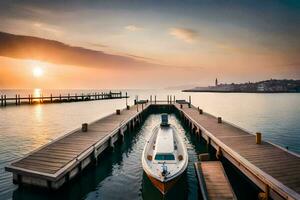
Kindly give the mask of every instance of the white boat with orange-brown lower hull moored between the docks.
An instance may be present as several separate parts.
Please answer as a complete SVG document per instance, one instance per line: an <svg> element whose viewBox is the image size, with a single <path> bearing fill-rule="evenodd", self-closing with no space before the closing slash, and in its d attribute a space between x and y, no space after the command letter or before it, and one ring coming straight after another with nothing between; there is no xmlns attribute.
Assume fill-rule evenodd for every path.
<svg viewBox="0 0 300 200"><path fill-rule="evenodd" d="M153 185L165 194L185 172L188 154L177 129L168 123L168 115L161 118L144 147L142 165Z"/></svg>

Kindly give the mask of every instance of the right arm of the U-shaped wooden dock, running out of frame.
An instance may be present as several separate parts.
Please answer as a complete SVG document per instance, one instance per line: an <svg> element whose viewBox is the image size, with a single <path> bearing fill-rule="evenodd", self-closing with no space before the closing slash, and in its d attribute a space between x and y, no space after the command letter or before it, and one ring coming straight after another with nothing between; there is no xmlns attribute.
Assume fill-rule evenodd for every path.
<svg viewBox="0 0 300 200"><path fill-rule="evenodd" d="M191 106L175 104L188 119L191 128L231 161L256 185L276 199L300 199L300 157ZM202 114L200 114L202 113ZM280 199L279 198L279 199Z"/></svg>

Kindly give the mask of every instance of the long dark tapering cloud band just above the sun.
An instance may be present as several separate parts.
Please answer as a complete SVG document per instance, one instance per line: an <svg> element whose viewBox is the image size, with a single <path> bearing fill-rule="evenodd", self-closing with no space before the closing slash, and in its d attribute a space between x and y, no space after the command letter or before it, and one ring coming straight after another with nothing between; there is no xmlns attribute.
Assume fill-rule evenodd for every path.
<svg viewBox="0 0 300 200"><path fill-rule="evenodd" d="M0 32L0 56L33 59L54 64L99 68L138 69L161 66L132 56L108 54L38 37Z"/></svg>

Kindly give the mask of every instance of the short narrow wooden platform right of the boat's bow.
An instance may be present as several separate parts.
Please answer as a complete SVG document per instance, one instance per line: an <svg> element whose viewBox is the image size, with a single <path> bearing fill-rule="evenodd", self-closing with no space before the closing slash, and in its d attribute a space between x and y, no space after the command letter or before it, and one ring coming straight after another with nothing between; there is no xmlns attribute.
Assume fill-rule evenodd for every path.
<svg viewBox="0 0 300 200"><path fill-rule="evenodd" d="M195 169L203 200L236 200L220 161L196 162Z"/></svg>

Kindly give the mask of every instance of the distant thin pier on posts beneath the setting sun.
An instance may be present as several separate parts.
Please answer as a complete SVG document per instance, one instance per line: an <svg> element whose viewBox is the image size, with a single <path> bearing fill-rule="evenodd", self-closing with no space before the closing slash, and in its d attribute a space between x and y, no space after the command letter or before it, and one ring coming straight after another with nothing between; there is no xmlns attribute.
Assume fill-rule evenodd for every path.
<svg viewBox="0 0 300 200"><path fill-rule="evenodd" d="M67 95L48 95L43 96L43 94L34 96L29 94L27 97L21 97L20 94L16 94L14 97L7 97L7 95L2 94L0 96L0 107L6 107L7 105L22 105L22 104L41 104L41 103L66 103L66 102L78 102L78 101L96 101L96 100L106 100L106 99L121 99L128 98L127 92L122 95L122 92L93 92L88 94L70 94Z"/></svg>

